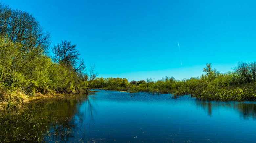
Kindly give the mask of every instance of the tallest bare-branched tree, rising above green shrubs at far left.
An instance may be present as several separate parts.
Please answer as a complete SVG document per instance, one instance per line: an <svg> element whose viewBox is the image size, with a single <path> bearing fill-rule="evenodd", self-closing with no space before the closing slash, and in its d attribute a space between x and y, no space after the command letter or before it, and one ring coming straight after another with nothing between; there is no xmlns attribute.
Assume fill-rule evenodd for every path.
<svg viewBox="0 0 256 143"><path fill-rule="evenodd" d="M11 9L2 3L0 3L0 35L22 45L12 64L13 68L19 71L36 56L46 52L51 43L50 33L44 32L43 27L32 14Z"/></svg>

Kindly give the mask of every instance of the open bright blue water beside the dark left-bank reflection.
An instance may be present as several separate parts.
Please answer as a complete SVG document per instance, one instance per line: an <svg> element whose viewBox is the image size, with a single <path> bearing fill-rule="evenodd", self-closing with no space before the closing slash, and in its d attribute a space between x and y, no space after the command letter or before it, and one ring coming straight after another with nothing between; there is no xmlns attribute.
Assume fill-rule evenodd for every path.
<svg viewBox="0 0 256 143"><path fill-rule="evenodd" d="M77 104L63 142L256 142L255 102L96 91Z"/></svg>

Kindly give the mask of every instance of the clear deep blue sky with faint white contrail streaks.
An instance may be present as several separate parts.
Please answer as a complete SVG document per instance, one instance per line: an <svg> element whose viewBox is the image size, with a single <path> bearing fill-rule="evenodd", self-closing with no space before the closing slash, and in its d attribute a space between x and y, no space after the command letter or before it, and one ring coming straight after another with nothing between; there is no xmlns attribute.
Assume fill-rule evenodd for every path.
<svg viewBox="0 0 256 143"><path fill-rule="evenodd" d="M255 0L2 0L77 44L99 77L188 79L254 61ZM179 45L178 45L179 44Z"/></svg>

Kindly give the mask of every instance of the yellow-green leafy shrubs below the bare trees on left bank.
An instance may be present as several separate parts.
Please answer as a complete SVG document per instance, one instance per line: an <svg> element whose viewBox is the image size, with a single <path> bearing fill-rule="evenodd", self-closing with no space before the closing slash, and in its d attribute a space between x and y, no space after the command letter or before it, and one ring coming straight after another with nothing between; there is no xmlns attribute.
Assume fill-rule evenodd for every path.
<svg viewBox="0 0 256 143"><path fill-rule="evenodd" d="M22 45L6 37L1 37L0 42L0 89L6 94L11 95L13 91L21 90L34 96L37 92L77 92L81 88L81 72L54 63L43 53L36 57L31 52L19 55L17 51Z"/></svg>

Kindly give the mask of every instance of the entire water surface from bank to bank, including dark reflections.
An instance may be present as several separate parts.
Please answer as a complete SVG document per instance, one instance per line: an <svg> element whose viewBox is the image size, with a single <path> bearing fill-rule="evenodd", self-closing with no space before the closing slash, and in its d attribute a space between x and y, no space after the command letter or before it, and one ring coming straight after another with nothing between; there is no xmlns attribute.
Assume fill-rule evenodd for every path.
<svg viewBox="0 0 256 143"><path fill-rule="evenodd" d="M254 141L255 102L99 91L80 99L39 101L23 110L0 113L0 142L14 138L23 142Z"/></svg>

